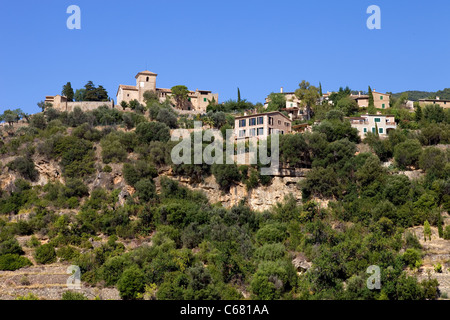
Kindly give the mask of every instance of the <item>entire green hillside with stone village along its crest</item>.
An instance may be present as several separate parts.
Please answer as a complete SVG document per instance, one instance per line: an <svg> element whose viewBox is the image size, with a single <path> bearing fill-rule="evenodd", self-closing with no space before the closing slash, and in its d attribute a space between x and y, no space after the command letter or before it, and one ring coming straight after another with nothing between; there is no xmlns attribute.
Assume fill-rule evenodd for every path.
<svg viewBox="0 0 450 320"><path fill-rule="evenodd" d="M448 299L448 89L299 80L252 103L156 78L120 79L114 98L67 82L39 113L2 109L0 299ZM259 153L175 163L172 134L196 122L233 130L249 157L278 134L278 170L262 174Z"/></svg>

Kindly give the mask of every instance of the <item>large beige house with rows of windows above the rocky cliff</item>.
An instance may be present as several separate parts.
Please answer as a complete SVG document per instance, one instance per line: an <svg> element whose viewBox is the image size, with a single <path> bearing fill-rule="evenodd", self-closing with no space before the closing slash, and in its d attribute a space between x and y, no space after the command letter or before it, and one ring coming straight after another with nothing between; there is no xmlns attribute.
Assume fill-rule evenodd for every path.
<svg viewBox="0 0 450 320"><path fill-rule="evenodd" d="M235 118L234 134L237 140L267 139L273 133L292 131L292 121L279 111L244 115Z"/></svg>

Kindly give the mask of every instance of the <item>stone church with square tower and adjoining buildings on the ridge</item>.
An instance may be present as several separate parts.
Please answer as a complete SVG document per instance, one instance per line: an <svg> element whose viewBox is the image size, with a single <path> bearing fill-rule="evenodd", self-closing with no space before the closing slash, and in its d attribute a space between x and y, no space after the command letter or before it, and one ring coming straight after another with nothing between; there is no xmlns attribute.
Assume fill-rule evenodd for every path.
<svg viewBox="0 0 450 320"><path fill-rule="evenodd" d="M116 94L117 104L120 105L122 101L130 102L131 100L137 100L139 103L144 104L144 93L146 91L156 92L160 102L170 99L172 104L175 104L171 89L156 87L157 76L158 74L145 70L139 72L135 76L136 86L119 85ZM188 102L184 109L206 112L206 107L209 105L210 101L215 101L217 103L219 101L219 95L208 90L197 89L195 91L189 91Z"/></svg>

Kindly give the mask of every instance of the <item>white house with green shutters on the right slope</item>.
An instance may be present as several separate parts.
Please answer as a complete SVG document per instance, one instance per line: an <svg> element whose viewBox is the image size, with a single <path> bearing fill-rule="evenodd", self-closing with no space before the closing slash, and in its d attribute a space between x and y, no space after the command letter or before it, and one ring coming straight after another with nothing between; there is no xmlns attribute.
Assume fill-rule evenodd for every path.
<svg viewBox="0 0 450 320"><path fill-rule="evenodd" d="M367 132L376 133L380 137L387 137L389 131L397 129L393 115L366 114L360 117L348 117L352 128L358 129L359 136L364 138Z"/></svg>

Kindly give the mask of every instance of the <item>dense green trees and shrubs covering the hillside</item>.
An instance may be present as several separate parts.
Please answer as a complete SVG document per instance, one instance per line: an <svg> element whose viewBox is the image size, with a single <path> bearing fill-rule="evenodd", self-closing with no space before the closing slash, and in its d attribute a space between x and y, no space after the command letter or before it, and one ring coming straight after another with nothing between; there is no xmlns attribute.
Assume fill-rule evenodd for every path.
<svg viewBox="0 0 450 320"><path fill-rule="evenodd" d="M300 89L315 97L308 90L317 88ZM165 175L170 169L192 182L214 175L222 192L239 182L249 190L271 183L260 164L171 163L171 128L192 128L193 120L231 128L226 113L248 107L240 97L197 119L179 117L149 96L145 106L124 111L46 108L18 129L13 121L0 143L2 158L13 158L2 169L16 177L1 191L0 269L31 264L16 238L32 236L23 246L36 263L76 264L83 281L115 286L123 299L438 298L435 280L411 276L422 248L408 228L428 223L450 237L441 217L450 206L450 154L437 146L449 143L448 110L388 110L399 115L399 129L384 140L368 134L363 143L370 152L357 152L362 142L344 115L358 110L345 93L333 99L336 107L309 105L311 121L322 120L313 132L280 137L283 165L310 169L298 184L303 202L286 195L263 212L250 210L245 199L225 209ZM64 183L32 185L42 159L57 162ZM412 169L424 176L401 173ZM117 172L135 190L122 203L112 182L93 183L100 173ZM23 213L28 219L6 218ZM124 242L131 239L151 245L130 250ZM300 253L312 262L308 272L292 264ZM381 268L381 290L365 285L371 265ZM72 292L63 298L85 299Z"/></svg>

